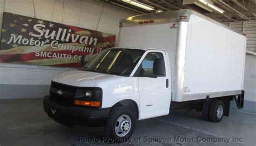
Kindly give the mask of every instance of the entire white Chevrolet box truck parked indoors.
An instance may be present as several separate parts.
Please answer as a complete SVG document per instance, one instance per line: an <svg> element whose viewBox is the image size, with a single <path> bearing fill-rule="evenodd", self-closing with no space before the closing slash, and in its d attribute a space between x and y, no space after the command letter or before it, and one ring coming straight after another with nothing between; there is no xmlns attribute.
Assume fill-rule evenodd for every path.
<svg viewBox="0 0 256 146"><path fill-rule="evenodd" d="M244 103L246 36L192 10L120 21L118 47L52 79L44 110L64 125L105 126L127 138L137 120L190 108L206 120Z"/></svg>

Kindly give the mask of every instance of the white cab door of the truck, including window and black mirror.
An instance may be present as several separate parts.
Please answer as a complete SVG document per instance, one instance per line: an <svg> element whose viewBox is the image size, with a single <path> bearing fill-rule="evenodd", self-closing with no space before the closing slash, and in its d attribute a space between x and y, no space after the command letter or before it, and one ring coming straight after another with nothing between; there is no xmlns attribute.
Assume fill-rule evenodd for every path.
<svg viewBox="0 0 256 146"><path fill-rule="evenodd" d="M169 114L171 86L165 55L160 50L147 52L134 74L139 78L140 119Z"/></svg>

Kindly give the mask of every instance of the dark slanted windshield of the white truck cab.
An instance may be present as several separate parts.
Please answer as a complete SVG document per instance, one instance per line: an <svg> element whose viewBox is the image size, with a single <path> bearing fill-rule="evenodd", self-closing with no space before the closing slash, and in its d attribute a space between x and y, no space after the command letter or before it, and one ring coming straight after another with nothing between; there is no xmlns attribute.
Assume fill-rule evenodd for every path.
<svg viewBox="0 0 256 146"><path fill-rule="evenodd" d="M144 52L140 49L105 49L82 70L129 76Z"/></svg>

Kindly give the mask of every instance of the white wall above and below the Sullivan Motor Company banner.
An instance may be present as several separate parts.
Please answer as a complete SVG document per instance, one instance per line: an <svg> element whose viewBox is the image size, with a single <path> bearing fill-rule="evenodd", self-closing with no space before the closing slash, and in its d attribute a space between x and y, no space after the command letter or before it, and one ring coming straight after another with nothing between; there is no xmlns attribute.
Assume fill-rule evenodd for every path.
<svg viewBox="0 0 256 146"><path fill-rule="evenodd" d="M1 25L4 11L111 33L116 38L119 20L136 14L92 0L0 0ZM0 99L42 98L53 75L72 69L0 63Z"/></svg>

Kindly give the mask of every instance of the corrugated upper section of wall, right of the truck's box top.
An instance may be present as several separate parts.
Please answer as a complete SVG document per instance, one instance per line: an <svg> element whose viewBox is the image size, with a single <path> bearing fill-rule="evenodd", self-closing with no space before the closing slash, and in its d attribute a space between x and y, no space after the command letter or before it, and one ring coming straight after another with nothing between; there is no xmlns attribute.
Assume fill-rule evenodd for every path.
<svg viewBox="0 0 256 146"><path fill-rule="evenodd" d="M245 33L247 36L246 48L256 52L256 20L231 22L226 23L226 25L234 30Z"/></svg>

